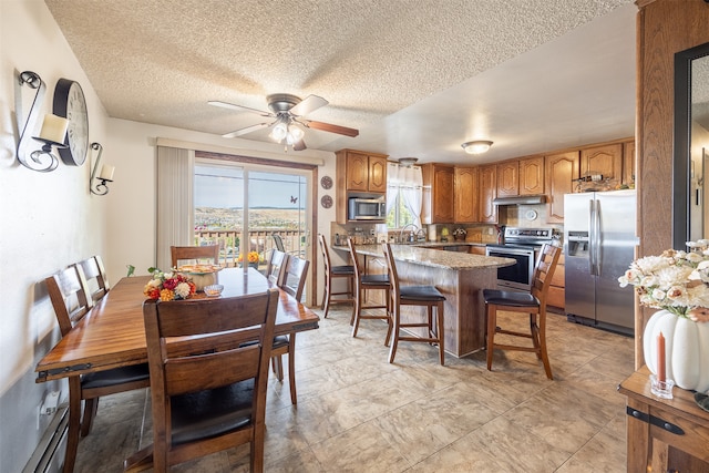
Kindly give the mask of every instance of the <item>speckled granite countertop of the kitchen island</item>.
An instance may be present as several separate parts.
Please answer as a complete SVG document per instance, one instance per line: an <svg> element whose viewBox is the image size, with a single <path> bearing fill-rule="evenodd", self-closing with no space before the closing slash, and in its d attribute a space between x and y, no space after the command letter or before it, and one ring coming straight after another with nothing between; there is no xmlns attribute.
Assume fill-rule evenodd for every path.
<svg viewBox="0 0 709 473"><path fill-rule="evenodd" d="M448 246L449 243L438 246ZM335 247L347 249L347 247ZM429 266L432 268L444 268L453 270L477 269L477 268L500 268L512 266L515 260L512 258L497 258L494 256L471 255L459 251L441 251L440 249L422 248L419 245L391 245L394 259L414 265ZM384 254L380 245L357 245L354 250L360 255L383 257Z"/></svg>

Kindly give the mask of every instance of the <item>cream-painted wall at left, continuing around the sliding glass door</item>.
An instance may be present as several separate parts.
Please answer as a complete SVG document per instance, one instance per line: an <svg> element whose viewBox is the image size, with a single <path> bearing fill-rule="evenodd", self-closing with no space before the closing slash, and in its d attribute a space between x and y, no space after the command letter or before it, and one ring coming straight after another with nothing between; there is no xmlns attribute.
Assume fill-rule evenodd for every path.
<svg viewBox="0 0 709 473"><path fill-rule="evenodd" d="M89 192L89 160L80 167L60 164L52 173L18 164L16 112L25 116L34 96L34 91L17 85L18 73L25 70L47 83L39 104L42 114L51 113L60 78L81 83L89 105L90 140L104 146L102 162L116 166L106 196ZM33 135L40 126L41 120ZM0 1L0 472L21 471L32 454L49 423L49 418L42 418L38 425L45 392L62 389L62 397L68 394L65 383L34 382L37 362L59 339L43 279L93 254L104 257L114 284L125 275L126 264L144 273L155 260L154 143L158 136L226 146L237 154L282 157L282 147L275 144L110 119L44 2ZM304 155L325 163L319 175L335 176L332 153L308 150ZM333 208L320 212L314 235L329 234L333 219Z"/></svg>

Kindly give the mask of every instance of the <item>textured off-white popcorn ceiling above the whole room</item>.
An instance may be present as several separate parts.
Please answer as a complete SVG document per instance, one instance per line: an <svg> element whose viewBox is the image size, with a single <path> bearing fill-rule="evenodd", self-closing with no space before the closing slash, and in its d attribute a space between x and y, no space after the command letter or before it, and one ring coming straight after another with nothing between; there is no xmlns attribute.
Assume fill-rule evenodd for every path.
<svg viewBox="0 0 709 473"><path fill-rule="evenodd" d="M109 115L224 134L320 95L310 148L479 162L633 135L631 0L45 0ZM240 138L269 141L267 131Z"/></svg>

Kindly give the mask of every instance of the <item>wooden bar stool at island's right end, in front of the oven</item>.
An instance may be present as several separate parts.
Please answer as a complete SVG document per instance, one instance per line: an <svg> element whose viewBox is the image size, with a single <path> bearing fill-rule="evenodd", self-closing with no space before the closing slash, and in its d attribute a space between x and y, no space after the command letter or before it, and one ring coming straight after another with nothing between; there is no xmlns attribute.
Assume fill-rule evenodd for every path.
<svg viewBox="0 0 709 473"><path fill-rule="evenodd" d="M531 351L536 353L537 359L542 360L546 377L551 380L552 367L546 350L546 296L548 292L556 264L562 254L562 248L555 245L545 244L540 250L534 276L532 278L532 290L530 292L516 292L497 289L483 289L483 298L485 300L485 312L487 315L487 370L492 371L493 350L517 350ZM527 313L530 316L530 332L520 332L516 330L505 330L497 327L497 311L510 311L517 313ZM506 343L496 343L495 335L505 333L514 337L523 337L532 339L530 346L513 346Z"/></svg>

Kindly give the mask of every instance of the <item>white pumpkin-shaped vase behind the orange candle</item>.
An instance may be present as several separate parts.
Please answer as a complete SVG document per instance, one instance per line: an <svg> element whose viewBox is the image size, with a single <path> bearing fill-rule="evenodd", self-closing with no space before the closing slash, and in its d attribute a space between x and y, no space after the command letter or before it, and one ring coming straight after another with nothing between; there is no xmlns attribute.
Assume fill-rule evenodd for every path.
<svg viewBox="0 0 709 473"><path fill-rule="evenodd" d="M657 374L657 337L665 337L667 379L679 388L709 390L709 322L693 322L668 310L650 317L643 335L645 363Z"/></svg>

